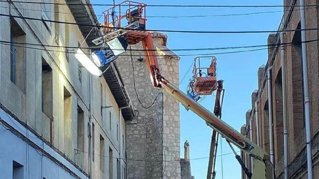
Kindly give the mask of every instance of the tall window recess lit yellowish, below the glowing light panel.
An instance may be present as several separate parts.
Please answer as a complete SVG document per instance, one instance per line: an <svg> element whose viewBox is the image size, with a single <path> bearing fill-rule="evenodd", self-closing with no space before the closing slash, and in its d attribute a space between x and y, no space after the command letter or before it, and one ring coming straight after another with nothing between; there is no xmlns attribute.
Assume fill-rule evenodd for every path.
<svg viewBox="0 0 319 179"><path fill-rule="evenodd" d="M69 143L69 140L66 136L70 136L70 123L71 123L71 94L70 92L64 87L64 94L63 94L63 117L64 117L64 142L65 144Z"/></svg>

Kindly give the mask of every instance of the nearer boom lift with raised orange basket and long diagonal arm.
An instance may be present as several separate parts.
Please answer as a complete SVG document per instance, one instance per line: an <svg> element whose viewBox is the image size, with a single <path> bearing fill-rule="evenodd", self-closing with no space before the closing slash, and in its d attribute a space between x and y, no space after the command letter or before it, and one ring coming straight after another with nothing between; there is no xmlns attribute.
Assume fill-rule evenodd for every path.
<svg viewBox="0 0 319 179"><path fill-rule="evenodd" d="M151 77L152 85L155 88L164 89L169 95L184 105L187 110L193 111L199 117L204 119L206 124L219 133L221 137L225 138L228 143L234 144L236 147L240 148L243 152L252 157L254 171L251 174L244 166L240 156L236 155L236 159L239 161L241 167L249 178L271 179L272 164L269 160L269 155L265 152L265 150L257 146L240 132L236 131L226 122L222 121L218 116L207 110L201 104L197 103L194 99L190 98L182 90L178 89L161 75L159 63L154 51L155 48L153 46L152 34L145 30L145 7L146 4L144 3L124 1L121 4L115 5L114 7L104 11L105 28L103 30L106 35L93 40L93 42L100 43L101 40L104 40L103 43L107 43L109 40L117 37L126 39L128 44L137 44L138 42L142 42L146 65ZM119 9L118 16L115 15L116 8ZM125 13L121 12L124 8L126 8ZM109 17L111 17L112 20L109 20ZM125 26L121 25L122 20L126 21L128 26L134 26L136 28L124 28ZM104 64L107 64L107 62ZM231 145L230 147L233 149Z"/></svg>

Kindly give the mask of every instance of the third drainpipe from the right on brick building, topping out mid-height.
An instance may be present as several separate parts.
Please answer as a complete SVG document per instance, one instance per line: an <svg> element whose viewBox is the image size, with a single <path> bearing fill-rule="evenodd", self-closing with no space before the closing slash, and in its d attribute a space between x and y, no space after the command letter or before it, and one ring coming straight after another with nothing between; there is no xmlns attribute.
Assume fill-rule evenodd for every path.
<svg viewBox="0 0 319 179"><path fill-rule="evenodd" d="M267 86L268 86L268 116L269 116L269 146L270 146L270 161L274 163L274 132L272 126L272 99L271 99L271 67L267 69ZM272 178L275 179L275 170L272 170Z"/></svg>

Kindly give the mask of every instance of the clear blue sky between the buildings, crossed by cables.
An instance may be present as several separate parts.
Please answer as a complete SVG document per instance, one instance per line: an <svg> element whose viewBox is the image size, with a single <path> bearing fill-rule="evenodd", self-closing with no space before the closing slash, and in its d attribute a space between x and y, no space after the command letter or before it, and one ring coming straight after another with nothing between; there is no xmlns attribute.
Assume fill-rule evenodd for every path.
<svg viewBox="0 0 319 179"><path fill-rule="evenodd" d="M92 4L101 4L100 0L91 0ZM186 0L144 0L146 4L209 4L209 5L282 5L282 0L227 0L227 1L186 1ZM103 1L112 4L112 1ZM116 1L120 3L120 1ZM96 6L97 15L108 7ZM177 7L148 7L147 16L189 16L189 15L220 15L238 14L249 12L282 11L283 8L177 8ZM204 17L204 18L148 18L147 29L169 30L202 30L202 31L257 31L277 30L283 12L264 13L242 16ZM102 20L102 19L101 19ZM267 44L267 33L263 34L189 34L167 33L167 46L177 48L204 48L204 47L232 47ZM247 49L243 49L247 50ZM203 54L220 53L232 50L220 51L194 51L176 54ZM236 51L236 50L235 50ZM180 79L183 78L194 56L182 56L180 60ZM235 129L245 123L245 113L251 108L251 93L257 89L257 69L267 61L267 50L244 52L236 54L219 54L217 68L219 79L224 80L226 89L223 106L223 120ZM209 65L209 60L203 63ZM204 65L203 65L204 66ZM192 76L191 70L180 88L185 90L188 80ZM213 109L214 96L208 96L202 104L207 109ZM183 106L181 111L181 157L183 158L183 143L190 143L190 158L209 156L211 128L204 120L197 117L191 111L186 111ZM222 141L222 153L231 153L231 149L224 139ZM218 155L221 154L220 145ZM192 175L197 179L206 177L208 159L191 160ZM223 156L223 172L221 170L221 157L217 158L216 179L241 178L241 168L233 154ZM223 173L223 177L222 177Z"/></svg>

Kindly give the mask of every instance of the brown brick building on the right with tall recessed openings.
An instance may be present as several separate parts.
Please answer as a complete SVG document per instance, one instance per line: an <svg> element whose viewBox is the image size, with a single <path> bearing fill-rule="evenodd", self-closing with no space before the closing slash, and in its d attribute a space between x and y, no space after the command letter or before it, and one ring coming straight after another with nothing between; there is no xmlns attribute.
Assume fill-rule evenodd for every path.
<svg viewBox="0 0 319 179"><path fill-rule="evenodd" d="M317 4L315 0L305 1L305 5ZM270 128L273 129L273 148L275 177L284 178L284 121L283 121L283 80L286 76L286 102L287 102L287 126L288 126L288 178L307 178L307 151L306 151L306 127L303 99L303 74L302 74L302 41L300 29L300 9L294 7L299 5L298 0L285 0L286 6L284 16L279 25L279 30L296 30L285 32L284 38L280 39L279 33L271 33L268 38L269 46L268 60L258 71L258 91L252 93L252 108L246 113L246 124L241 128L243 134L270 153ZM305 26L318 28L317 8L305 8ZM306 31L307 58L308 58L308 82L310 97L310 128L311 128L311 156L313 163L313 178L319 178L318 147L319 147L319 125L318 125L318 103L319 103L319 63L318 63L318 31ZM281 47L273 44L284 43L284 61L286 62L286 73L282 74ZM270 76L267 77L267 71ZM268 84L267 78L271 81ZM267 87L271 85L271 90ZM272 113L269 116L269 98L271 93ZM256 102L256 108L255 108ZM256 124L256 113L258 114L258 125ZM273 119L270 125L270 117ZM250 125L251 120L251 125ZM258 131L258 135L257 135ZM257 141L257 136L259 141ZM250 157L242 154L247 167L251 169ZM246 178L242 173L242 178Z"/></svg>

